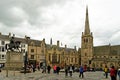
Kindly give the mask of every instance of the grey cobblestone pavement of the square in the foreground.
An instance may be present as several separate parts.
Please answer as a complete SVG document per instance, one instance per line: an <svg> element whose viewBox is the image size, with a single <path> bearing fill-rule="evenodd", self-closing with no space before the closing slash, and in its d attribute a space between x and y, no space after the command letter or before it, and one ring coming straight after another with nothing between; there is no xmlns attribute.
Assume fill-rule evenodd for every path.
<svg viewBox="0 0 120 80"><path fill-rule="evenodd" d="M85 72L84 78L79 78L79 73L73 73L73 76L65 77L64 72L60 72L59 75L41 73L40 71L36 71L35 73L20 73L18 71L9 71L8 77L6 77L6 71L2 71L0 73L0 80L110 80L110 77L107 79L103 75L103 72Z"/></svg>

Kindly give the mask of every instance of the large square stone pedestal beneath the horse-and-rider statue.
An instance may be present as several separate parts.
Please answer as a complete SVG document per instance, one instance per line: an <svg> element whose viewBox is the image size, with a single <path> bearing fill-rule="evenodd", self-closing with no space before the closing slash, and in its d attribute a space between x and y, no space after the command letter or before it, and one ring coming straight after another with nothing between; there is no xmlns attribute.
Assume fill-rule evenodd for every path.
<svg viewBox="0 0 120 80"><path fill-rule="evenodd" d="M8 51L6 53L5 67L8 70L19 70L23 67L24 60L23 54L15 51Z"/></svg>

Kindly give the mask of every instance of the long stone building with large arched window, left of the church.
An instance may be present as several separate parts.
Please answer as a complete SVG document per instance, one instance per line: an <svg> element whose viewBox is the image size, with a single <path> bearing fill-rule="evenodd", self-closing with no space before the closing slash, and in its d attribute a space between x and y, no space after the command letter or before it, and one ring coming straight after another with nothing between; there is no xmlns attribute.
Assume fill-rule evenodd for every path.
<svg viewBox="0 0 120 80"><path fill-rule="evenodd" d="M46 46L46 61L47 65L58 65L64 67L65 65L77 65L79 64L79 56L76 48L60 47L60 42L57 41L57 45L53 45L52 42Z"/></svg>

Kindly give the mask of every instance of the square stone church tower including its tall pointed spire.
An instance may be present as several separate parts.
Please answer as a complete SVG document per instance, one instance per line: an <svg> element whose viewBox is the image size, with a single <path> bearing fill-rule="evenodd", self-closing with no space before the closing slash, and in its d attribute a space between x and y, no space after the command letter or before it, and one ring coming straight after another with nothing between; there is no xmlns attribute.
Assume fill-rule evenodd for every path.
<svg viewBox="0 0 120 80"><path fill-rule="evenodd" d="M90 32L88 7L86 7L85 30L81 37L81 65L90 67L93 57L93 36Z"/></svg>

